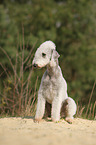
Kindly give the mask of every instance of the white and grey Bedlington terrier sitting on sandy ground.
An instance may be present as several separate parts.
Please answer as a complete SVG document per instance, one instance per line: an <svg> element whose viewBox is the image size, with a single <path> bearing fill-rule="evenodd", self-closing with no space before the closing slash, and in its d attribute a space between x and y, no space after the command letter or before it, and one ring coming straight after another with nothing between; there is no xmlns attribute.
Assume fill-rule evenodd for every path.
<svg viewBox="0 0 96 145"><path fill-rule="evenodd" d="M42 43L35 53L32 65L38 68L47 66L38 91L36 122L43 118L46 102L52 104L51 119L54 122L58 122L61 115L67 122L72 123L76 113L75 101L68 97L67 83L58 65L59 56L52 41Z"/></svg>

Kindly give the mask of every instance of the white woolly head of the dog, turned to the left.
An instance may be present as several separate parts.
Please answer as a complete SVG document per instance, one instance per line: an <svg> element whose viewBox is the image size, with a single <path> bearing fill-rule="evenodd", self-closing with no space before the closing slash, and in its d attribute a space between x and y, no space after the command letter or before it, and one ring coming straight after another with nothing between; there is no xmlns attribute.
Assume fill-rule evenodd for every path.
<svg viewBox="0 0 96 145"><path fill-rule="evenodd" d="M55 50L56 46L52 41L46 41L40 45L35 53L32 65L34 67L44 67L48 64L55 65L59 54Z"/></svg>

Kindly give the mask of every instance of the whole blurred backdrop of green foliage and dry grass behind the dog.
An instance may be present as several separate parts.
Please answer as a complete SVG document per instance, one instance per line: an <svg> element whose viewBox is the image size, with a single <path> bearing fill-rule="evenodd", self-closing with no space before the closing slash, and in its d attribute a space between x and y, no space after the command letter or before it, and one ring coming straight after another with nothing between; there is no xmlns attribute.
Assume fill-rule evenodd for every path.
<svg viewBox="0 0 96 145"><path fill-rule="evenodd" d="M81 114L94 117L95 0L0 0L0 113L35 110L45 68L32 70L31 63L46 40L56 44L68 94L79 104L77 114L81 107Z"/></svg>

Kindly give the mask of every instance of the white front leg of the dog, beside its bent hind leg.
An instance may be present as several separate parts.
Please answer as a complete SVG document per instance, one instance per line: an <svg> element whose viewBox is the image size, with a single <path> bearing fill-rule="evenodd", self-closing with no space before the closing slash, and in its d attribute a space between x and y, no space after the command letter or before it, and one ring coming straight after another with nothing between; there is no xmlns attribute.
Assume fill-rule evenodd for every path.
<svg viewBox="0 0 96 145"><path fill-rule="evenodd" d="M61 100L59 97L55 97L52 102L52 121L58 122L60 120Z"/></svg>

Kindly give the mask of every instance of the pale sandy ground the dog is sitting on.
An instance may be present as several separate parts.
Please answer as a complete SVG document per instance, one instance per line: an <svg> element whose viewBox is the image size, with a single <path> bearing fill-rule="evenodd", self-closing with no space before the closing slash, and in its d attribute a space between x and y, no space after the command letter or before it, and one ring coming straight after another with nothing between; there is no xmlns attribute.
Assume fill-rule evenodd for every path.
<svg viewBox="0 0 96 145"><path fill-rule="evenodd" d="M96 120L76 118L73 124L29 118L1 118L0 145L96 145Z"/></svg>

